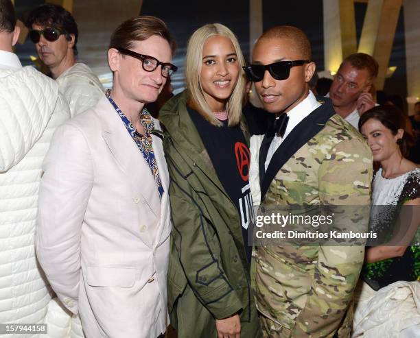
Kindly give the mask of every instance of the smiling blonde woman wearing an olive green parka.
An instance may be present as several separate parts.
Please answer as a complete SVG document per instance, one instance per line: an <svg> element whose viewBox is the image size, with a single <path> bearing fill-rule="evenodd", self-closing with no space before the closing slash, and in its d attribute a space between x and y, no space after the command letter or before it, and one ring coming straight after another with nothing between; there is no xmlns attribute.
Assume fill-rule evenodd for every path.
<svg viewBox="0 0 420 338"><path fill-rule="evenodd" d="M200 27L187 47L187 90L160 112L172 180L168 302L179 338L262 337L244 244L253 209L243 65L229 28Z"/></svg>

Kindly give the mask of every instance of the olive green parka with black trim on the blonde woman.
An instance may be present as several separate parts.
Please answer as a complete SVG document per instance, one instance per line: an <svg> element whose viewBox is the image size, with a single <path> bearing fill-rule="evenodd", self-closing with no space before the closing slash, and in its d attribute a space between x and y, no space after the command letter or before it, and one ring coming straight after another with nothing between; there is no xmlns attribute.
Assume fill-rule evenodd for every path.
<svg viewBox="0 0 420 338"><path fill-rule="evenodd" d="M185 93L176 95L159 117L171 178L171 324L179 338L213 338L217 337L215 319L239 313L241 337L262 337L240 217L216 175L186 102Z"/></svg>

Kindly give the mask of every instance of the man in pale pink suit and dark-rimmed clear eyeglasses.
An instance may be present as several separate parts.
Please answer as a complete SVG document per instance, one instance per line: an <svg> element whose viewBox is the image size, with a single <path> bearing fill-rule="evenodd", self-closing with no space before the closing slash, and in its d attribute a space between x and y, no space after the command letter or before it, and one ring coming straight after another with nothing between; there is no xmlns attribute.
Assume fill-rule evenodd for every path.
<svg viewBox="0 0 420 338"><path fill-rule="evenodd" d="M167 327L169 178L159 122L143 106L176 71L173 51L160 19L117 27L112 90L58 128L43 163L36 252L87 338L154 338Z"/></svg>

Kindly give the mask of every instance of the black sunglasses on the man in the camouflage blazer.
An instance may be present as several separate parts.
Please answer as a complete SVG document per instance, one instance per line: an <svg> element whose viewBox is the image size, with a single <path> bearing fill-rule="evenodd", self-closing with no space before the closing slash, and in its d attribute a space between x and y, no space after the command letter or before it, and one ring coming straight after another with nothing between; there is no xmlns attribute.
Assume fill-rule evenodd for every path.
<svg viewBox="0 0 420 338"><path fill-rule="evenodd" d="M279 61L272 64L249 64L242 67L248 79L252 82L260 82L264 79L266 71L275 78L275 80L286 80L290 75L290 68L309 63L309 60Z"/></svg>

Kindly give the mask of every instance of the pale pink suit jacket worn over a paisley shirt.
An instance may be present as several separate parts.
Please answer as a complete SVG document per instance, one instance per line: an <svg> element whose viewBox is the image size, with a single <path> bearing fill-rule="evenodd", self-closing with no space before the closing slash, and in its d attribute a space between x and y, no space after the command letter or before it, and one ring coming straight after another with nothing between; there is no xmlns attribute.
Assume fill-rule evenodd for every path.
<svg viewBox="0 0 420 338"><path fill-rule="evenodd" d="M169 176L161 139L152 139L161 198L106 97L56 130L43 163L36 252L88 338L157 337L166 328Z"/></svg>

